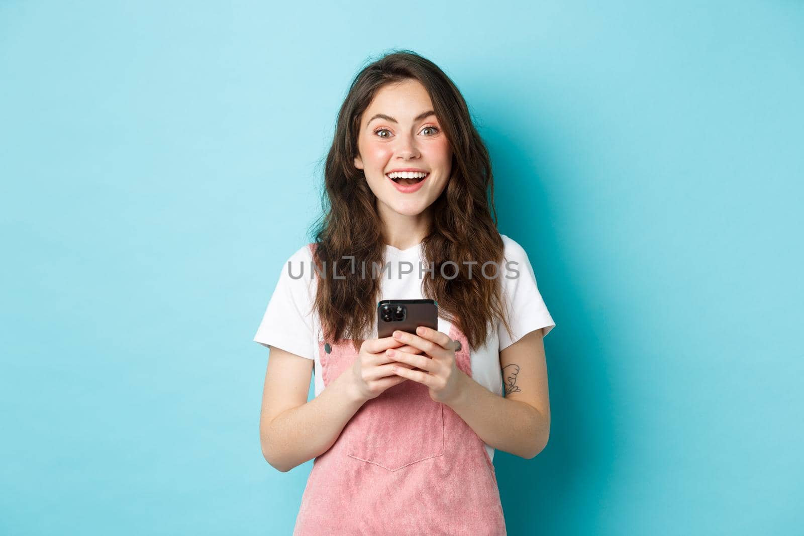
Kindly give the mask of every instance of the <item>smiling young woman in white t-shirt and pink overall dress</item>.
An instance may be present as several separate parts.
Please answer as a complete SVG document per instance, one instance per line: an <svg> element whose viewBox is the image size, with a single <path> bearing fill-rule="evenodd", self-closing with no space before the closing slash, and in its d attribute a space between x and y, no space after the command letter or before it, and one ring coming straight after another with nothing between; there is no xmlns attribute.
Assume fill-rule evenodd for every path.
<svg viewBox="0 0 804 536"><path fill-rule="evenodd" d="M271 349L263 455L314 458L293 534L505 534L491 460L547 443L555 323L492 219L489 154L449 77L411 51L359 72L325 188L254 338ZM421 298L437 330L377 338L378 301Z"/></svg>

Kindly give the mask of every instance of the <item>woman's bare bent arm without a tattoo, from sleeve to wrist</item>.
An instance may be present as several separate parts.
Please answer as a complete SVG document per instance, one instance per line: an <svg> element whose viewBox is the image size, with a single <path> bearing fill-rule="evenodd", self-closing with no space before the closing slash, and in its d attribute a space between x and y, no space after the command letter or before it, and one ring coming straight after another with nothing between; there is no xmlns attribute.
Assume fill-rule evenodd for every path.
<svg viewBox="0 0 804 536"><path fill-rule="evenodd" d="M271 346L260 412L260 444L265 460L282 473L329 450L365 402L348 383L347 374L307 402L312 371L312 359Z"/></svg>

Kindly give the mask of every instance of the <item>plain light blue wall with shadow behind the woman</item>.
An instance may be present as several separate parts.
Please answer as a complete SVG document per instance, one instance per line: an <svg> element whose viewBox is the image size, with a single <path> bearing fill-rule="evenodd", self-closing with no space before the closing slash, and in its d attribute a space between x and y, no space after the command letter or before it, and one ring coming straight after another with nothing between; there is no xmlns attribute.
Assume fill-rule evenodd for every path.
<svg viewBox="0 0 804 536"><path fill-rule="evenodd" d="M605 5L603 5L605 4ZM556 329L510 534L802 530L804 4L0 3L2 534L290 534L252 342L363 63L461 89ZM312 393L311 393L312 395Z"/></svg>

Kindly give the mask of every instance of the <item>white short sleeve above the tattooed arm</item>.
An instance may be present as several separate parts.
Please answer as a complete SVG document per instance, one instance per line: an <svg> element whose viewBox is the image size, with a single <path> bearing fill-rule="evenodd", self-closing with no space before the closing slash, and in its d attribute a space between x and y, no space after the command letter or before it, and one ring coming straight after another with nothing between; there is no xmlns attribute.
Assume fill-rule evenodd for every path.
<svg viewBox="0 0 804 536"><path fill-rule="evenodd" d="M513 336L509 335L503 322L498 323L499 349L502 351L535 329L544 328L544 336L547 336L556 323L539 293L527 253L513 239L506 235L501 236L505 244L506 259L500 274L503 278L503 295L509 324L513 332Z"/></svg>

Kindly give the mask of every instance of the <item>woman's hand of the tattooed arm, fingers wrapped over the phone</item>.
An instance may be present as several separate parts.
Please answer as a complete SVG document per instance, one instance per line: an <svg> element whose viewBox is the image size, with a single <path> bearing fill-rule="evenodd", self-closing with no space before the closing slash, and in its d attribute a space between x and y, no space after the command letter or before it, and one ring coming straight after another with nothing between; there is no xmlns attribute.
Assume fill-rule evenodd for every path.
<svg viewBox="0 0 804 536"><path fill-rule="evenodd" d="M385 350L385 354L395 361L416 366L420 370L397 366L393 369L394 374L425 384L429 388L431 399L449 405L461 394L463 380L466 378L466 373L455 362L456 342L446 333L425 326L416 328L416 333L418 335L397 330L393 337L418 348L424 355L408 354L393 348Z"/></svg>

